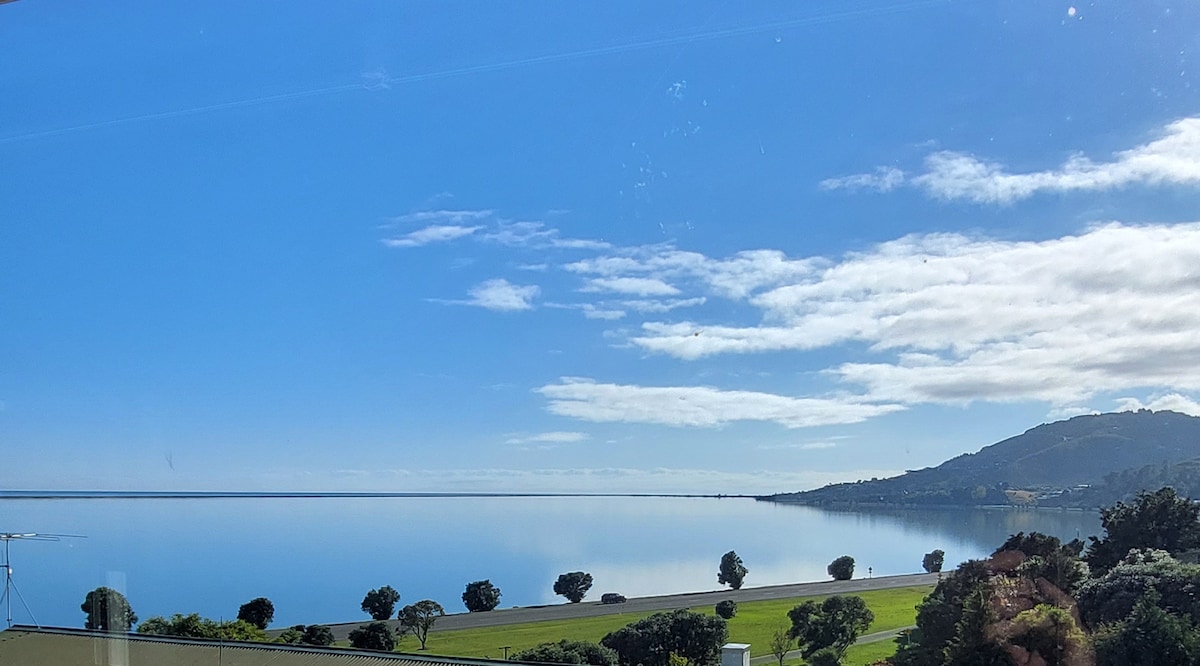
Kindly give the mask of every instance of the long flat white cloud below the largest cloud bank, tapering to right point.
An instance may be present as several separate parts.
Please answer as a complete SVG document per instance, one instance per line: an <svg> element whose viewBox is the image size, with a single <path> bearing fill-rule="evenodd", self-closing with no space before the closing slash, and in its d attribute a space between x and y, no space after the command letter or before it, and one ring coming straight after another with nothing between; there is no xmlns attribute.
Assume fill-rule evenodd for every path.
<svg viewBox="0 0 1200 666"><path fill-rule="evenodd" d="M853 396L787 397L708 386L600 384L564 377L536 391L547 409L584 421L716 427L733 421L770 421L785 427L854 424L904 407L864 402Z"/></svg>

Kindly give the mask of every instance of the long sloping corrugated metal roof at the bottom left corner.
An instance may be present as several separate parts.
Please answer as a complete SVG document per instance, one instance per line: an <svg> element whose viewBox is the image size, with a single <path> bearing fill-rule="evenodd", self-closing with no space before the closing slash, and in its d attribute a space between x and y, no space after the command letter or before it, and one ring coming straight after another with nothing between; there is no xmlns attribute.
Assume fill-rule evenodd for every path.
<svg viewBox="0 0 1200 666"><path fill-rule="evenodd" d="M0 666L497 666L487 659L14 626ZM514 662L504 661L506 666Z"/></svg>

